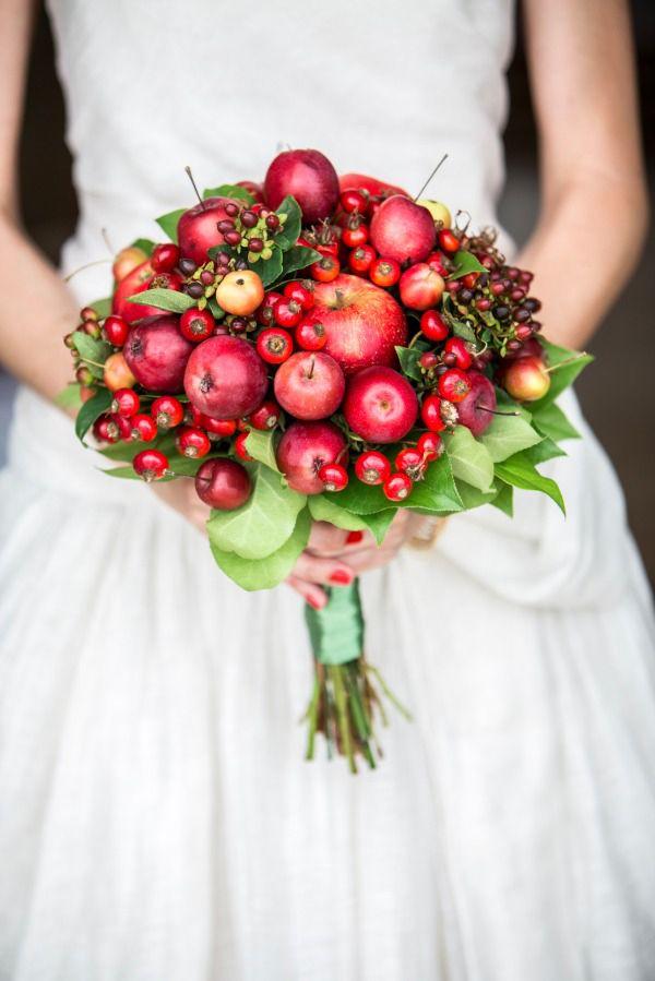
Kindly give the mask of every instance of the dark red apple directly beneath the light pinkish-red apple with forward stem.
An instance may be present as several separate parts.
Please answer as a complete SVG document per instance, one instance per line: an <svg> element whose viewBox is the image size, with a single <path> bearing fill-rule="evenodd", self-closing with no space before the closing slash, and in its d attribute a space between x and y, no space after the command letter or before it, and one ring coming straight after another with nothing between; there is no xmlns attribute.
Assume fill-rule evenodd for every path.
<svg viewBox="0 0 655 981"><path fill-rule="evenodd" d="M345 466L346 446L346 438L332 422L291 422L277 446L277 466L291 490L320 494L325 486L319 470L337 460Z"/></svg>

